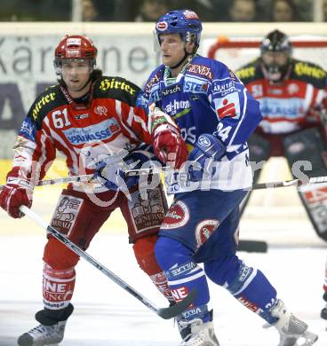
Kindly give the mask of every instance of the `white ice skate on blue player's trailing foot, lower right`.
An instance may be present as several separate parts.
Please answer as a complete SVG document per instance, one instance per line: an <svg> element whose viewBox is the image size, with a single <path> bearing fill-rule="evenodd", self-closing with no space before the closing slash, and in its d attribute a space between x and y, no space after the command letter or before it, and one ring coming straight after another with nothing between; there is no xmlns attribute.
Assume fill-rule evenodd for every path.
<svg viewBox="0 0 327 346"><path fill-rule="evenodd" d="M278 300L271 313L279 318L273 326L280 334L278 346L311 346L318 336L307 330L307 324L287 311L283 302Z"/></svg>

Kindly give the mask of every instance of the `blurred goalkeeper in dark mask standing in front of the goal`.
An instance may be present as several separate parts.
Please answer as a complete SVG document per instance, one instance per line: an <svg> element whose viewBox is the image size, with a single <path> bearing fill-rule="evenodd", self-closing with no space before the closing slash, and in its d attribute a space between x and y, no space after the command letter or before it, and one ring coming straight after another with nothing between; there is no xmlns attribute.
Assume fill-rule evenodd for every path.
<svg viewBox="0 0 327 346"><path fill-rule="evenodd" d="M248 141L250 160L256 162L254 180L258 181L263 163L272 156L284 156L294 177L326 176L326 71L293 59L291 43L279 30L264 38L260 50L259 59L236 71L259 100L263 116ZM243 209L249 197L250 193ZM327 184L303 185L299 197L315 232L327 240ZM327 274L325 282L323 298L327 302ZM327 308L321 316L327 319Z"/></svg>

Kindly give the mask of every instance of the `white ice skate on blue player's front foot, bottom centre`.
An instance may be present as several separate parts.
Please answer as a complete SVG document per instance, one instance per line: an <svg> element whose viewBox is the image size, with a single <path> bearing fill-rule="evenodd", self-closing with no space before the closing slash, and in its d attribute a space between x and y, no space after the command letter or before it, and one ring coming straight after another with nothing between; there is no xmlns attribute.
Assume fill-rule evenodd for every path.
<svg viewBox="0 0 327 346"><path fill-rule="evenodd" d="M203 323L201 318L184 321L177 318L179 333L183 341L179 346L219 346L211 321Z"/></svg>

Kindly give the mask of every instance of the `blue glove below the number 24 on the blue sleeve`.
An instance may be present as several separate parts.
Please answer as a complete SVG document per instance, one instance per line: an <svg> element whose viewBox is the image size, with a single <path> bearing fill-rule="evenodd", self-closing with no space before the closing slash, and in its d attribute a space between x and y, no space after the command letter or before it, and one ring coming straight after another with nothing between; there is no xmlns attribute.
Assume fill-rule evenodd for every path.
<svg viewBox="0 0 327 346"><path fill-rule="evenodd" d="M202 180L204 173L213 174L215 169L210 172L211 163L213 161L219 161L225 153L226 146L219 138L208 133L203 133L203 135L197 138L195 147L187 157L187 161L194 162L188 170L190 180Z"/></svg>

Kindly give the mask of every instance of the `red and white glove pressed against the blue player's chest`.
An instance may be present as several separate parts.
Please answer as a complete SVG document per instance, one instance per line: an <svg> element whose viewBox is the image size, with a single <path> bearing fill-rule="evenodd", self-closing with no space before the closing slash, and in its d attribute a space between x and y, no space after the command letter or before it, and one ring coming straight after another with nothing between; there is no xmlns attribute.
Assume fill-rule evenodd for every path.
<svg viewBox="0 0 327 346"><path fill-rule="evenodd" d="M187 161L188 151L178 126L169 115L154 108L150 113L150 130L156 157L172 169L179 169Z"/></svg>

